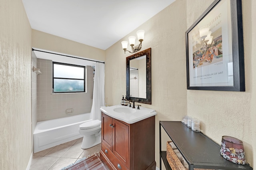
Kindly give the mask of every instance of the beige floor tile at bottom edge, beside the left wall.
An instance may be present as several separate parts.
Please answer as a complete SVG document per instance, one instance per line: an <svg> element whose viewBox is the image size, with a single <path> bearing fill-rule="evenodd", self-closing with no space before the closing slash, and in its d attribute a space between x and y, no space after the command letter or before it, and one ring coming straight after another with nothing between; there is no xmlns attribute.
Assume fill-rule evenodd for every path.
<svg viewBox="0 0 256 170"><path fill-rule="evenodd" d="M30 170L47 170L50 168L59 158L44 156L32 166Z"/></svg>

